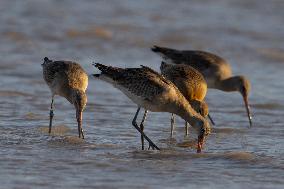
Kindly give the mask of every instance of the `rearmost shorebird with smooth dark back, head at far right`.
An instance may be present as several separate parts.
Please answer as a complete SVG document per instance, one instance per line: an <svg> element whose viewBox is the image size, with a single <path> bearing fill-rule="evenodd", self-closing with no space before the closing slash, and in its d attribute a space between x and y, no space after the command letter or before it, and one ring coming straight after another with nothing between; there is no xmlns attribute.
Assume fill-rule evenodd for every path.
<svg viewBox="0 0 284 189"><path fill-rule="evenodd" d="M208 88L225 92L238 91L243 97L249 124L252 126L248 103L250 82L245 76L233 76L231 67L226 60L205 51L175 50L159 46L154 46L152 51L158 53L167 63L187 64L197 69L203 74Z"/></svg>

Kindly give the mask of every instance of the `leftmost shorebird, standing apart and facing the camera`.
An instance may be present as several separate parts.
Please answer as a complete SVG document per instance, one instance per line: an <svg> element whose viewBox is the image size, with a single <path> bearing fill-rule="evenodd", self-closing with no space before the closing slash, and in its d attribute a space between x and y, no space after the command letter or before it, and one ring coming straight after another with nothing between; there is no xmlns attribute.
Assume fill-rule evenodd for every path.
<svg viewBox="0 0 284 189"><path fill-rule="evenodd" d="M79 138L84 139L82 129L82 114L87 104L86 89L88 86L88 75L83 68L71 61L52 61L44 58L43 78L51 90L51 105L49 119L49 134L51 133L54 96L65 97L76 109Z"/></svg>

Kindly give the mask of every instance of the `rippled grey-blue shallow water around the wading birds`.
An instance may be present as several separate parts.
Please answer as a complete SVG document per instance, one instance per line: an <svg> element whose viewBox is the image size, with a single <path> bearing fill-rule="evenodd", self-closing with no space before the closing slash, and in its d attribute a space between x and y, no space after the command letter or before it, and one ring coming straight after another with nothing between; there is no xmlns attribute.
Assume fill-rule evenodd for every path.
<svg viewBox="0 0 284 189"><path fill-rule="evenodd" d="M0 188L283 188L284 47L282 1L0 1ZM225 57L252 83L253 127L239 94L209 90L216 122L204 152L194 131L149 113L147 135L161 151L141 151L131 126L136 106L90 78L85 140L75 112L50 92L42 59L93 61L158 70L153 44ZM141 118L140 118L141 119Z"/></svg>

